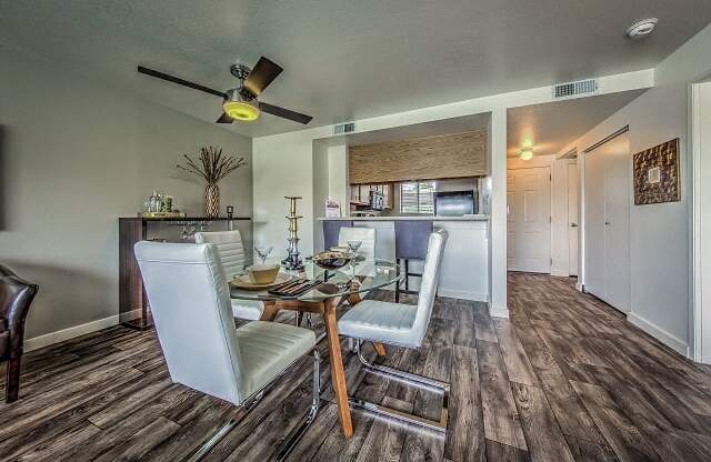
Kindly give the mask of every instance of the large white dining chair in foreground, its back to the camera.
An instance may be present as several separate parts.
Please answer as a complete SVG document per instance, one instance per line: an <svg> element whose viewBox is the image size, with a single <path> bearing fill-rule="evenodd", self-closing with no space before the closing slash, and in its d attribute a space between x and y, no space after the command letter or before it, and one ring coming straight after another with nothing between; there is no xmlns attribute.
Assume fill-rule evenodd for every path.
<svg viewBox="0 0 711 462"><path fill-rule="evenodd" d="M277 458L283 460L319 411L313 331L266 321L237 329L214 244L141 241L134 252L173 382L249 410L272 382L312 353L311 409L278 450ZM186 460L200 460L236 425L234 420L222 424Z"/></svg>

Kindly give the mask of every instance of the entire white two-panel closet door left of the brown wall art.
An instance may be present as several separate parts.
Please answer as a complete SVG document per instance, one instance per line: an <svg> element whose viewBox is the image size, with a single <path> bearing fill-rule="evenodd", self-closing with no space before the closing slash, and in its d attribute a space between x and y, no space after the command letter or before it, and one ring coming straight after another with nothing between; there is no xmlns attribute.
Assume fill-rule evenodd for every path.
<svg viewBox="0 0 711 462"><path fill-rule="evenodd" d="M584 153L584 288L630 312L630 140L627 130Z"/></svg>

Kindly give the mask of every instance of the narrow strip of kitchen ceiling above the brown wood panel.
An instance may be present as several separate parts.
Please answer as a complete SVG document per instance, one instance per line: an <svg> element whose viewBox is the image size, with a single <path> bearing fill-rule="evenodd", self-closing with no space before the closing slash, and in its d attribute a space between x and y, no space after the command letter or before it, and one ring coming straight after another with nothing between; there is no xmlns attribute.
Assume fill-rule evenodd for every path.
<svg viewBox="0 0 711 462"><path fill-rule="evenodd" d="M346 140L348 145L363 145L410 140L414 138L435 137L439 134L463 133L465 131L485 129L489 124L489 113L465 116L425 123L414 123L412 125L403 125L385 130L373 130L363 133L349 134L346 137Z"/></svg>

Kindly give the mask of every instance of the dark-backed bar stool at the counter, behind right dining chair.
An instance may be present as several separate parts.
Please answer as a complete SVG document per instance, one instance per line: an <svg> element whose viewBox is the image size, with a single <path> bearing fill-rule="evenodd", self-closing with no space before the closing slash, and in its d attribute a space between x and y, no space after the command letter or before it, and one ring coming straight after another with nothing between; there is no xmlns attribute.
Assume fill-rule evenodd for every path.
<svg viewBox="0 0 711 462"><path fill-rule="evenodd" d="M410 272L410 260L424 260L427 244L432 234L432 220L395 220L395 259L404 260L404 293L410 290L410 277L422 278L422 273ZM400 302L400 283L395 284L395 303Z"/></svg>

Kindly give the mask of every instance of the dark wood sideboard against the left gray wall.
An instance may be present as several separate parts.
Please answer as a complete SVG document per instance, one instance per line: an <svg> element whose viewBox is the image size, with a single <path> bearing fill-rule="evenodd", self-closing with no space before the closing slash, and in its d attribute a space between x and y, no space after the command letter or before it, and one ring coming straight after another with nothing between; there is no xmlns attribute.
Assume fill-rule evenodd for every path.
<svg viewBox="0 0 711 462"><path fill-rule="evenodd" d="M139 330L150 329L153 325L143 281L133 254L133 245L137 242L149 239L193 242L177 235L186 228L204 231L240 229L242 239L246 241L244 245L249 249L251 248L251 223L246 222L250 221L249 217L119 218L119 322ZM249 229L246 230L244 225Z"/></svg>

